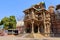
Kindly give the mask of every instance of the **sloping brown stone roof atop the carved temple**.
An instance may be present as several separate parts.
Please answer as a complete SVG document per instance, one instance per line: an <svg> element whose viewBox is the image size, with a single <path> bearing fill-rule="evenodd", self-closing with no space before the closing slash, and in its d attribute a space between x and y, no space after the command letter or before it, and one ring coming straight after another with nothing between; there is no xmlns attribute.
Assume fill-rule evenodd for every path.
<svg viewBox="0 0 60 40"><path fill-rule="evenodd" d="M33 5L32 7L24 10L23 12L24 13L29 13L31 10L40 11L40 9L42 9L42 8L45 8L45 3L44 2L40 2L40 3L36 4L36 5Z"/></svg>

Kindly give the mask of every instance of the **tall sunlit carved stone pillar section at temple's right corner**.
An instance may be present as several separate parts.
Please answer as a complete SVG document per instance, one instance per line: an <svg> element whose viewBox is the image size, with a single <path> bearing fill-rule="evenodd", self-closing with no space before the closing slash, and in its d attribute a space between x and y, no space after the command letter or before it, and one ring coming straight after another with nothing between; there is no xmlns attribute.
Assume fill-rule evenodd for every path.
<svg viewBox="0 0 60 40"><path fill-rule="evenodd" d="M49 17L46 18L47 14L43 13L43 15L44 15L44 33L45 33L45 36L48 37L50 36L50 19Z"/></svg>

